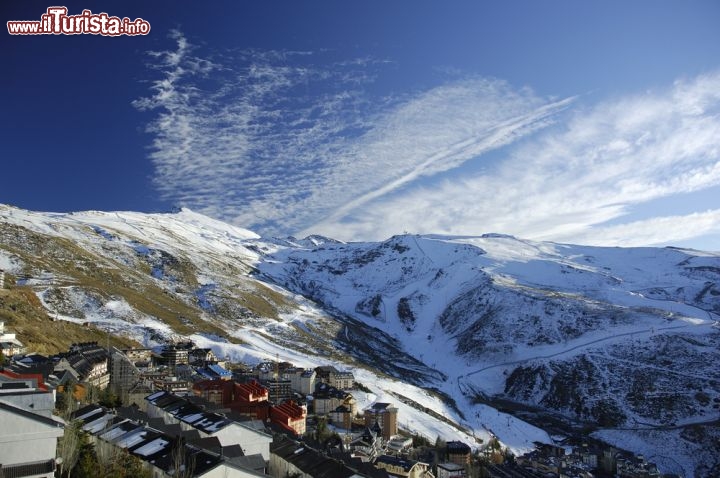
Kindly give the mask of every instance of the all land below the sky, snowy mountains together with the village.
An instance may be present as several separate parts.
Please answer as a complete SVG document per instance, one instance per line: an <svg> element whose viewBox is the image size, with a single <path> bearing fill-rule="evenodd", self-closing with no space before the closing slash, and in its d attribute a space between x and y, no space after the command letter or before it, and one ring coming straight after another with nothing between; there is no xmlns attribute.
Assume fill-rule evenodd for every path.
<svg viewBox="0 0 720 478"><path fill-rule="evenodd" d="M4 478L720 470L716 254L0 206L0 268Z"/></svg>

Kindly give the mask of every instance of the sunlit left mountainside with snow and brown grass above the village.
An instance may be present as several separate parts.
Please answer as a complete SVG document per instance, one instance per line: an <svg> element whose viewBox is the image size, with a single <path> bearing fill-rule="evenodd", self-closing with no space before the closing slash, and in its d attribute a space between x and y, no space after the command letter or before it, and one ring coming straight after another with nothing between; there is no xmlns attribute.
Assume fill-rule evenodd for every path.
<svg viewBox="0 0 720 478"><path fill-rule="evenodd" d="M252 274L273 251L325 243L339 244L320 236L262 240L189 210L58 214L0 205L0 265L32 287L56 319L90 324L148 346L190 338L235 361L280 357L300 366L348 367L372 390L358 396L362 404L396 403L402 425L429 440L486 442L485 429L452 425L461 421L454 409L408 383L444 377L404 354L391 336L339 320ZM398 391L446 418L401 402ZM514 449L527 449L527 436L549 440L541 430L510 420L517 422L506 435Z"/></svg>

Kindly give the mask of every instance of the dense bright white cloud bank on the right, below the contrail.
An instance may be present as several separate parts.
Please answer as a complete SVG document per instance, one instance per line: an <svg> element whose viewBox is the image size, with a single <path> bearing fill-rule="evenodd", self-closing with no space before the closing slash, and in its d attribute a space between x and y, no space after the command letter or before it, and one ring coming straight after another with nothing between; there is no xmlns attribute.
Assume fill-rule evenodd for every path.
<svg viewBox="0 0 720 478"><path fill-rule="evenodd" d="M681 218L603 224L621 221L635 205L720 184L719 95L720 73L715 73L678 81L665 91L579 109L567 124L512 148L492 171L373 203L342 222L323 224L321 231L350 237L383 236L398 228L446 234L498 231L637 245L717 230L717 214L700 213L707 204L696 205L698 214ZM651 226L670 230L663 239ZM643 227L648 229L641 233Z"/></svg>

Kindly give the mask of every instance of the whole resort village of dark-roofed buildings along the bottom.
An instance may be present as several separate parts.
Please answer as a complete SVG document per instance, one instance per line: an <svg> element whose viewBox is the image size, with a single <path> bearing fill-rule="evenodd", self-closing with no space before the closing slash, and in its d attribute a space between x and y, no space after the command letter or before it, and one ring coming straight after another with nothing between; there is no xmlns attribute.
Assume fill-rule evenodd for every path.
<svg viewBox="0 0 720 478"><path fill-rule="evenodd" d="M235 364L192 342L78 343L48 357L15 334L2 341L3 477L663 476L599 443L538 443L514 457L497 440L413 434L393 403L358 401L368 390L332 365Z"/></svg>

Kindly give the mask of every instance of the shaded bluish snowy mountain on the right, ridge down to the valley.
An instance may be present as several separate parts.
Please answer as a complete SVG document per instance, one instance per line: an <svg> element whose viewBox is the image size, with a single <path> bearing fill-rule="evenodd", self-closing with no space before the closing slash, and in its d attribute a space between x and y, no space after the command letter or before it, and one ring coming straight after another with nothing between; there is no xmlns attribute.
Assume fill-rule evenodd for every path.
<svg viewBox="0 0 720 478"><path fill-rule="evenodd" d="M389 331L458 401L498 397L638 433L717 417L717 254L405 235L281 249L259 270ZM678 457L688 474L698 448Z"/></svg>

